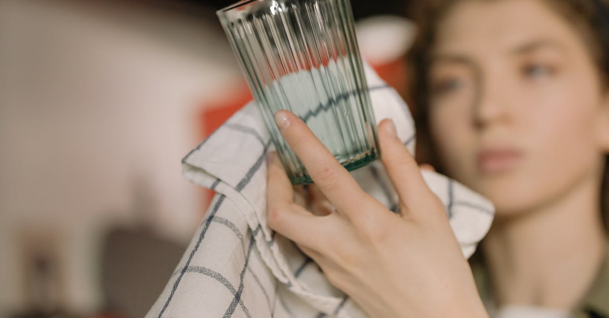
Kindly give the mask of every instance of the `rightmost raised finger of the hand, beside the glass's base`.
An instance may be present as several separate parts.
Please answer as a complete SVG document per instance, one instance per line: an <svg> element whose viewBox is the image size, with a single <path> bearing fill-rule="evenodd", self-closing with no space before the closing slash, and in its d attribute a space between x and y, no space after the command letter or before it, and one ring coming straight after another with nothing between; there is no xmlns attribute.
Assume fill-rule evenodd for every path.
<svg viewBox="0 0 609 318"><path fill-rule="evenodd" d="M389 174L393 187L403 205L409 207L409 210L416 210L410 207L420 202L421 196L429 192L417 162L398 139L395 125L391 119L385 119L379 124L378 135L382 154L381 161Z"/></svg>

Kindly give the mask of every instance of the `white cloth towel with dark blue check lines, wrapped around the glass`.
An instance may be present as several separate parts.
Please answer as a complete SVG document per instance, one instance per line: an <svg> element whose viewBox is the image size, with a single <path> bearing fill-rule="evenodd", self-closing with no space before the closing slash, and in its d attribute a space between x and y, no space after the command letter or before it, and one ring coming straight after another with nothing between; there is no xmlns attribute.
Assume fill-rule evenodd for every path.
<svg viewBox="0 0 609 318"><path fill-rule="evenodd" d="M414 122L400 96L366 68L375 117L392 118L414 152ZM320 106L321 107L321 106ZM266 224L266 153L272 149L256 105L238 111L183 159L183 173L217 191L169 283L146 317L366 317L319 267ZM376 161L352 172L395 211L397 195ZM493 205L443 175L423 171L445 203L463 254L486 235Z"/></svg>

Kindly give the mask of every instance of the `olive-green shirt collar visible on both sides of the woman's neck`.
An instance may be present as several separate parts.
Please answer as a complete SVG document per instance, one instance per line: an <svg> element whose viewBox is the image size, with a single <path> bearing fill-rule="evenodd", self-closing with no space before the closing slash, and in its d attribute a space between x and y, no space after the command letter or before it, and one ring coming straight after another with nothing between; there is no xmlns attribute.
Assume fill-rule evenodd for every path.
<svg viewBox="0 0 609 318"><path fill-rule="evenodd" d="M605 261L592 288L586 293L582 303L572 311L576 318L609 318L609 244L607 244L606 251ZM482 301L488 303L492 289L487 270L481 262L471 261L470 263Z"/></svg>

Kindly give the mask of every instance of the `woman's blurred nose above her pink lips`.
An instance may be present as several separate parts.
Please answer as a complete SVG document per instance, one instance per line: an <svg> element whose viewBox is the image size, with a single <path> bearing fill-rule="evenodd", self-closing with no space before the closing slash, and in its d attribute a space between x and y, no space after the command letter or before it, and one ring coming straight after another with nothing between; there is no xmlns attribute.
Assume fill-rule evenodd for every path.
<svg viewBox="0 0 609 318"><path fill-rule="evenodd" d="M472 116L478 129L487 129L490 125L507 124L510 121L509 96L499 85L481 79L478 83L476 97L473 101Z"/></svg>

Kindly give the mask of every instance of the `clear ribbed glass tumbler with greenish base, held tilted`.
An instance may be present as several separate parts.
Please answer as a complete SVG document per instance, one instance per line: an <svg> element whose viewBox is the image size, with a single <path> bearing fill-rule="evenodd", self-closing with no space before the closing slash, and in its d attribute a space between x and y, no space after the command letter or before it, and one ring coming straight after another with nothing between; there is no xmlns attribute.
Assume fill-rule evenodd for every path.
<svg viewBox="0 0 609 318"><path fill-rule="evenodd" d="M347 170L379 157L349 0L245 0L217 12L287 175L311 183L275 111L299 116Z"/></svg>

